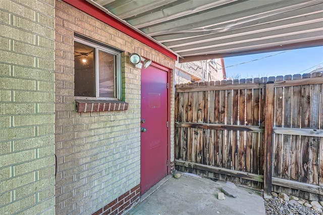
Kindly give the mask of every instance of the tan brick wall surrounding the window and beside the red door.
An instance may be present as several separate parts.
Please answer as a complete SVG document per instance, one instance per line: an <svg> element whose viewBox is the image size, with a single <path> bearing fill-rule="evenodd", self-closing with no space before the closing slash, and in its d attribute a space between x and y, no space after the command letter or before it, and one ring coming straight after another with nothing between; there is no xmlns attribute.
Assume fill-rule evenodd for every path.
<svg viewBox="0 0 323 215"><path fill-rule="evenodd" d="M125 193L133 195L131 190L140 184L141 73L123 53L122 94L123 100L129 103L128 110L77 113L73 68L75 32L125 52L137 52L169 68L174 67L174 61L72 6L56 1L56 212L91 214L117 209L120 213L126 204L124 208L110 208L109 205L114 206L111 202L132 204L139 197L136 194L128 201ZM174 136L172 145L173 139Z"/></svg>

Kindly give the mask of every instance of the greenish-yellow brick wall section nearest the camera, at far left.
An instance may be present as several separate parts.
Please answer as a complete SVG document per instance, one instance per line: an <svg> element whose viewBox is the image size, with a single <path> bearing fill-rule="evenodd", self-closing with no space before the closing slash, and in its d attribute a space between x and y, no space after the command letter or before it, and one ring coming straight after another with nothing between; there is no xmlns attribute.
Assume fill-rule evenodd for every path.
<svg viewBox="0 0 323 215"><path fill-rule="evenodd" d="M55 1L0 1L0 214L55 213Z"/></svg>

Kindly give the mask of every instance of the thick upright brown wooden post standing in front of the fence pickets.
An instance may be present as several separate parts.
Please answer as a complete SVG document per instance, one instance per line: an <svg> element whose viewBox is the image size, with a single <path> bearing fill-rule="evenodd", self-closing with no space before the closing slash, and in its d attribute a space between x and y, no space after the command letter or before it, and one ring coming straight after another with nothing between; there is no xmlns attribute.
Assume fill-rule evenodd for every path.
<svg viewBox="0 0 323 215"><path fill-rule="evenodd" d="M272 197L273 171L273 120L274 120L274 82L268 81L265 89L265 121L264 121L264 172L263 197Z"/></svg>

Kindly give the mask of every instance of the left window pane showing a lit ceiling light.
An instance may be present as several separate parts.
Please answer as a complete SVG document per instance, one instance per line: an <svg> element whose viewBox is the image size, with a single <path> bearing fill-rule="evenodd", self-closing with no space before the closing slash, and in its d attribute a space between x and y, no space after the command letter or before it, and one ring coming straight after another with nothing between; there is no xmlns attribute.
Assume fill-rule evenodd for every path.
<svg viewBox="0 0 323 215"><path fill-rule="evenodd" d="M94 48L74 42L75 96L95 97Z"/></svg>

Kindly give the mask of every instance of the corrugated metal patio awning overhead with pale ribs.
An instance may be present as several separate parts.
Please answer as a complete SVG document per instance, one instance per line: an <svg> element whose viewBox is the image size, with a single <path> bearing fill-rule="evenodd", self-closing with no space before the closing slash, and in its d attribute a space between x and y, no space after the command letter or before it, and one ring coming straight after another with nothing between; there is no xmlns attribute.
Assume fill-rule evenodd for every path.
<svg viewBox="0 0 323 215"><path fill-rule="evenodd" d="M323 45L323 0L86 0L180 62Z"/></svg>

